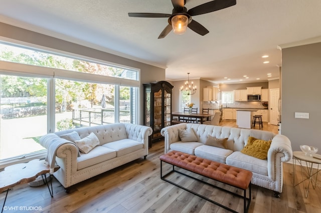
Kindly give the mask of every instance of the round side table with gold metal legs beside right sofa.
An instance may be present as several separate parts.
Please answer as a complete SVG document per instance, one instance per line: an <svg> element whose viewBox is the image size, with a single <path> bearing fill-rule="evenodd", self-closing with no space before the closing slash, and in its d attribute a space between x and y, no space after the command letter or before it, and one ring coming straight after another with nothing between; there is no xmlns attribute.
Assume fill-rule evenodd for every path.
<svg viewBox="0 0 321 213"><path fill-rule="evenodd" d="M302 181L296 184L295 184L295 161L297 161L300 165L301 176L302 176ZM315 170L313 171L313 164L317 165L316 171ZM316 183L317 174L321 170L321 166L319 167L320 164L321 164L321 159L315 158L313 156L306 156L303 151L293 151L293 186L295 187L298 184L303 183L303 191L304 191L305 198L307 198L310 183L312 184L313 189L315 189L316 186L321 189L321 187ZM304 172L308 175L308 177L305 176L305 179L303 177ZM313 178L314 176L315 178ZM308 180L306 192L304 187L305 180Z"/></svg>

